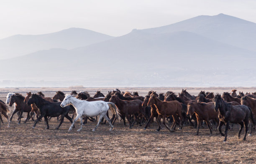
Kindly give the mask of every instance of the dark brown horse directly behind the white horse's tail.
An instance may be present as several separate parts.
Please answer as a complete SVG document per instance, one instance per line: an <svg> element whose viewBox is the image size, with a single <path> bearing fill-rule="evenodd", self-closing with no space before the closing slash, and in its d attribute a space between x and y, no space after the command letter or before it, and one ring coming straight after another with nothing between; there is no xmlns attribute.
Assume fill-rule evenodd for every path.
<svg viewBox="0 0 256 164"><path fill-rule="evenodd" d="M116 93L118 93L118 92L116 92ZM133 124L136 122L137 118L141 114L144 117L147 117L145 108L142 107L143 102L139 99L126 101L126 100L119 99L118 96L112 95L109 101L113 102L120 110L120 115L124 121L124 125L125 125L125 117L127 118L129 125L130 125L130 127L129 127L130 129L131 129L131 127L133 127ZM130 119L130 115L132 115L132 114L134 116L133 122L131 122L131 119ZM115 117L115 119L116 119L116 117ZM113 120L113 123L115 122L115 119ZM148 119L148 118L146 118L146 119Z"/></svg>

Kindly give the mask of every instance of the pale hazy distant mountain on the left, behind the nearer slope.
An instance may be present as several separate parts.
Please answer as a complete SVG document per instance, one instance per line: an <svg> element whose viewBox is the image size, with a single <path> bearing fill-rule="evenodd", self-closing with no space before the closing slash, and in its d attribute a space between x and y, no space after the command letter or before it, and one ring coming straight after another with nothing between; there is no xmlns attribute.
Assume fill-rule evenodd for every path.
<svg viewBox="0 0 256 164"><path fill-rule="evenodd" d="M0 59L51 48L73 49L114 37L82 28L69 28L44 35L14 35L0 40Z"/></svg>

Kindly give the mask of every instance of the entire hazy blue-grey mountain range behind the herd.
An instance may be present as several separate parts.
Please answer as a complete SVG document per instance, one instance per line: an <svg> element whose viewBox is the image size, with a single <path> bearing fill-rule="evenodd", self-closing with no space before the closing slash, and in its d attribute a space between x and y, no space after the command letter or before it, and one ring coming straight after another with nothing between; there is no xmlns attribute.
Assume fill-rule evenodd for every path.
<svg viewBox="0 0 256 164"><path fill-rule="evenodd" d="M253 86L255 45L256 23L224 14L120 37L80 28L14 35L0 40L0 85Z"/></svg>

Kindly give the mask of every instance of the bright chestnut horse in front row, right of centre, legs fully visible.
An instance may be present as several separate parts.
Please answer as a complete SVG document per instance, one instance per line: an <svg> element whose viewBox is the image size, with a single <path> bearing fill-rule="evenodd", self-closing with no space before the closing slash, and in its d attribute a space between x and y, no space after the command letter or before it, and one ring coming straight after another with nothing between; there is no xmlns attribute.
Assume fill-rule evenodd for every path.
<svg viewBox="0 0 256 164"><path fill-rule="evenodd" d="M157 123L159 128L157 129L157 131L160 131L161 126L159 124L159 121L161 119L161 117L163 118L163 124L164 126L170 131L170 132L174 132L175 127L176 127L176 123L177 123L177 119L178 117L180 118L179 121L179 129L182 129L182 104L178 101L172 101L172 102L164 102L161 101L160 99L158 99L154 94L150 95L150 98L148 100L148 106L151 105L155 105L156 106L156 112L159 114L158 118L157 118ZM170 129L168 127L167 124L165 124L165 118L166 116L172 116L174 119L174 122L172 124L172 129Z"/></svg>

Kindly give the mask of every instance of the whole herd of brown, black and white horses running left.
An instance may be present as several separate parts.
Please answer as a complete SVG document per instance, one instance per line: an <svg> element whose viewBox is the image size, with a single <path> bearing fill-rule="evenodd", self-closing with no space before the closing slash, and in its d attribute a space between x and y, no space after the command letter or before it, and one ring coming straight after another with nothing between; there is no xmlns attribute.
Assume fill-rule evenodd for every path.
<svg viewBox="0 0 256 164"><path fill-rule="evenodd" d="M116 120L123 120L124 125L127 120L129 128L135 123L139 126L145 124L144 130L146 130L156 118L157 131L162 129L161 119L162 124L170 132L174 132L177 125L180 130L184 125L190 124L197 128L197 135L200 126L206 124L212 134L212 126L216 125L216 129L226 141L228 129L232 130L233 124L241 126L238 138L242 129L245 129L243 140L246 140L248 129L250 129L248 135L251 136L256 124L256 92L246 94L239 92L237 95L235 89L231 93L224 92L222 95L201 91L197 96L189 94L186 89L182 89L178 95L172 91L165 94L149 91L145 97L139 96L138 92L121 92L119 89L108 91L106 96L97 91L93 97L86 91L79 93L72 91L66 95L57 91L52 98L45 97L42 92L34 94L27 92L26 97L10 92L6 98L6 102L0 101L0 121L3 123L3 115L8 121L8 127L15 113L18 114L17 121L20 124L23 112L27 113L24 123L31 118L34 121L33 128L44 117L46 129L49 129L48 121L51 117L57 117L59 125L56 129L59 129L65 117L71 122L69 130L72 130L74 123L80 119L80 128L77 131L82 130L82 125L86 124L88 119L92 122L98 119L93 131L100 123L106 124L106 122L110 125L111 131ZM14 105L10 119L7 115L10 112L7 104ZM109 111L112 113L111 118ZM69 114L72 114L72 117L69 117ZM166 119L172 124L171 127L166 124ZM221 127L224 124L223 133Z"/></svg>

